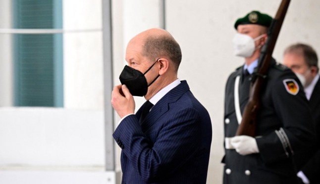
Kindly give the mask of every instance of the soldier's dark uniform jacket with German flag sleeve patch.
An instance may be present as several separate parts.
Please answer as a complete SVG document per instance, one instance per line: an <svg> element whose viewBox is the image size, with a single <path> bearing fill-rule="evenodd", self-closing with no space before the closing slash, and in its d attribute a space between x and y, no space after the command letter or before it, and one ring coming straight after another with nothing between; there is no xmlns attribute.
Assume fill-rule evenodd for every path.
<svg viewBox="0 0 320 184"><path fill-rule="evenodd" d="M224 134L234 137L238 128L235 113L235 78L243 67L232 73L225 88ZM243 76L241 76L243 77ZM248 93L241 89L241 93ZM270 62L257 113L256 141L260 153L240 155L225 149L224 184L296 184L297 169L292 154L301 154L313 146L316 136L305 93L296 75L285 66ZM248 97L240 100L243 112Z"/></svg>

